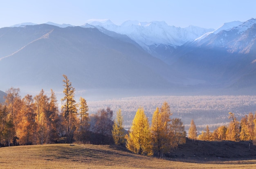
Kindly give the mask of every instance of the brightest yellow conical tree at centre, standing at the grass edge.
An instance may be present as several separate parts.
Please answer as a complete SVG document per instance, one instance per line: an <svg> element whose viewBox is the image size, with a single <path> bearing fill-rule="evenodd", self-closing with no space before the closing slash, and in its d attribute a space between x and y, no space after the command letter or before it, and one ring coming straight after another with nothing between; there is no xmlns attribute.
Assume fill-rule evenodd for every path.
<svg viewBox="0 0 256 169"><path fill-rule="evenodd" d="M141 155L152 154L150 146L150 128L148 118L143 108L137 110L126 139L126 147L133 153Z"/></svg>

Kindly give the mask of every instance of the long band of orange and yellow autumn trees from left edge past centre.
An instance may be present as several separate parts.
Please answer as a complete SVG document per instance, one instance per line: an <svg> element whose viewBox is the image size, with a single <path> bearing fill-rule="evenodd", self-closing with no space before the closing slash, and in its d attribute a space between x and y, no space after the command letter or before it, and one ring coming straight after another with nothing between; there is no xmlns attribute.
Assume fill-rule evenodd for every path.
<svg viewBox="0 0 256 169"><path fill-rule="evenodd" d="M21 98L19 88L6 91L5 102L0 104L0 145L35 145L49 143L116 144L143 155L164 156L170 149L185 143L186 132L180 119L171 119L170 106L164 102L156 108L152 125L143 108L139 108L130 130L124 130L121 109L113 121L110 108L88 114L88 105L80 97L74 99L75 88L63 75L63 98L58 110L56 95L51 90L47 97L42 89L33 97Z"/></svg>

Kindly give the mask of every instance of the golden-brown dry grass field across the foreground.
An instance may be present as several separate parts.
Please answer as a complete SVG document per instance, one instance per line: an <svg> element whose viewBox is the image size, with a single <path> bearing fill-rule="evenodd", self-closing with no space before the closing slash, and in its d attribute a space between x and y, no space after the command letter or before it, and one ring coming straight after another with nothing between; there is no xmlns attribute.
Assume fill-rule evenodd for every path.
<svg viewBox="0 0 256 169"><path fill-rule="evenodd" d="M132 154L103 145L30 145L0 148L0 168L7 169L252 169L256 160L177 162Z"/></svg>

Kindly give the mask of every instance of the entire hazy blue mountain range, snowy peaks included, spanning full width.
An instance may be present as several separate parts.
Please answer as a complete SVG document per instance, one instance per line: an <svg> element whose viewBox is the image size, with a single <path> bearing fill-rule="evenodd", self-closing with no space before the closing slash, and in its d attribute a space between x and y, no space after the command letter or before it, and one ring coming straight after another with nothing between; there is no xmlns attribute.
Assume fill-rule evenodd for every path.
<svg viewBox="0 0 256 169"><path fill-rule="evenodd" d="M0 90L61 91L65 74L79 91L254 94L255 40L254 18L216 30L157 21L18 24L0 29Z"/></svg>

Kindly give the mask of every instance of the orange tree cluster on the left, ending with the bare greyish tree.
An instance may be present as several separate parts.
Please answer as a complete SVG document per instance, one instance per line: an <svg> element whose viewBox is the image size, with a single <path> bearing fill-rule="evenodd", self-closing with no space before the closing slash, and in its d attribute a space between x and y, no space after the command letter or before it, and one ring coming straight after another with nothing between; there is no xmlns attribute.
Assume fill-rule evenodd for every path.
<svg viewBox="0 0 256 169"><path fill-rule="evenodd" d="M0 104L0 146L113 142L112 110L102 109L89 116L86 100L81 97L76 103L75 89L67 76L63 77L60 110L53 90L50 97L42 89L35 97L27 94L23 98L19 88L6 91L5 101Z"/></svg>

